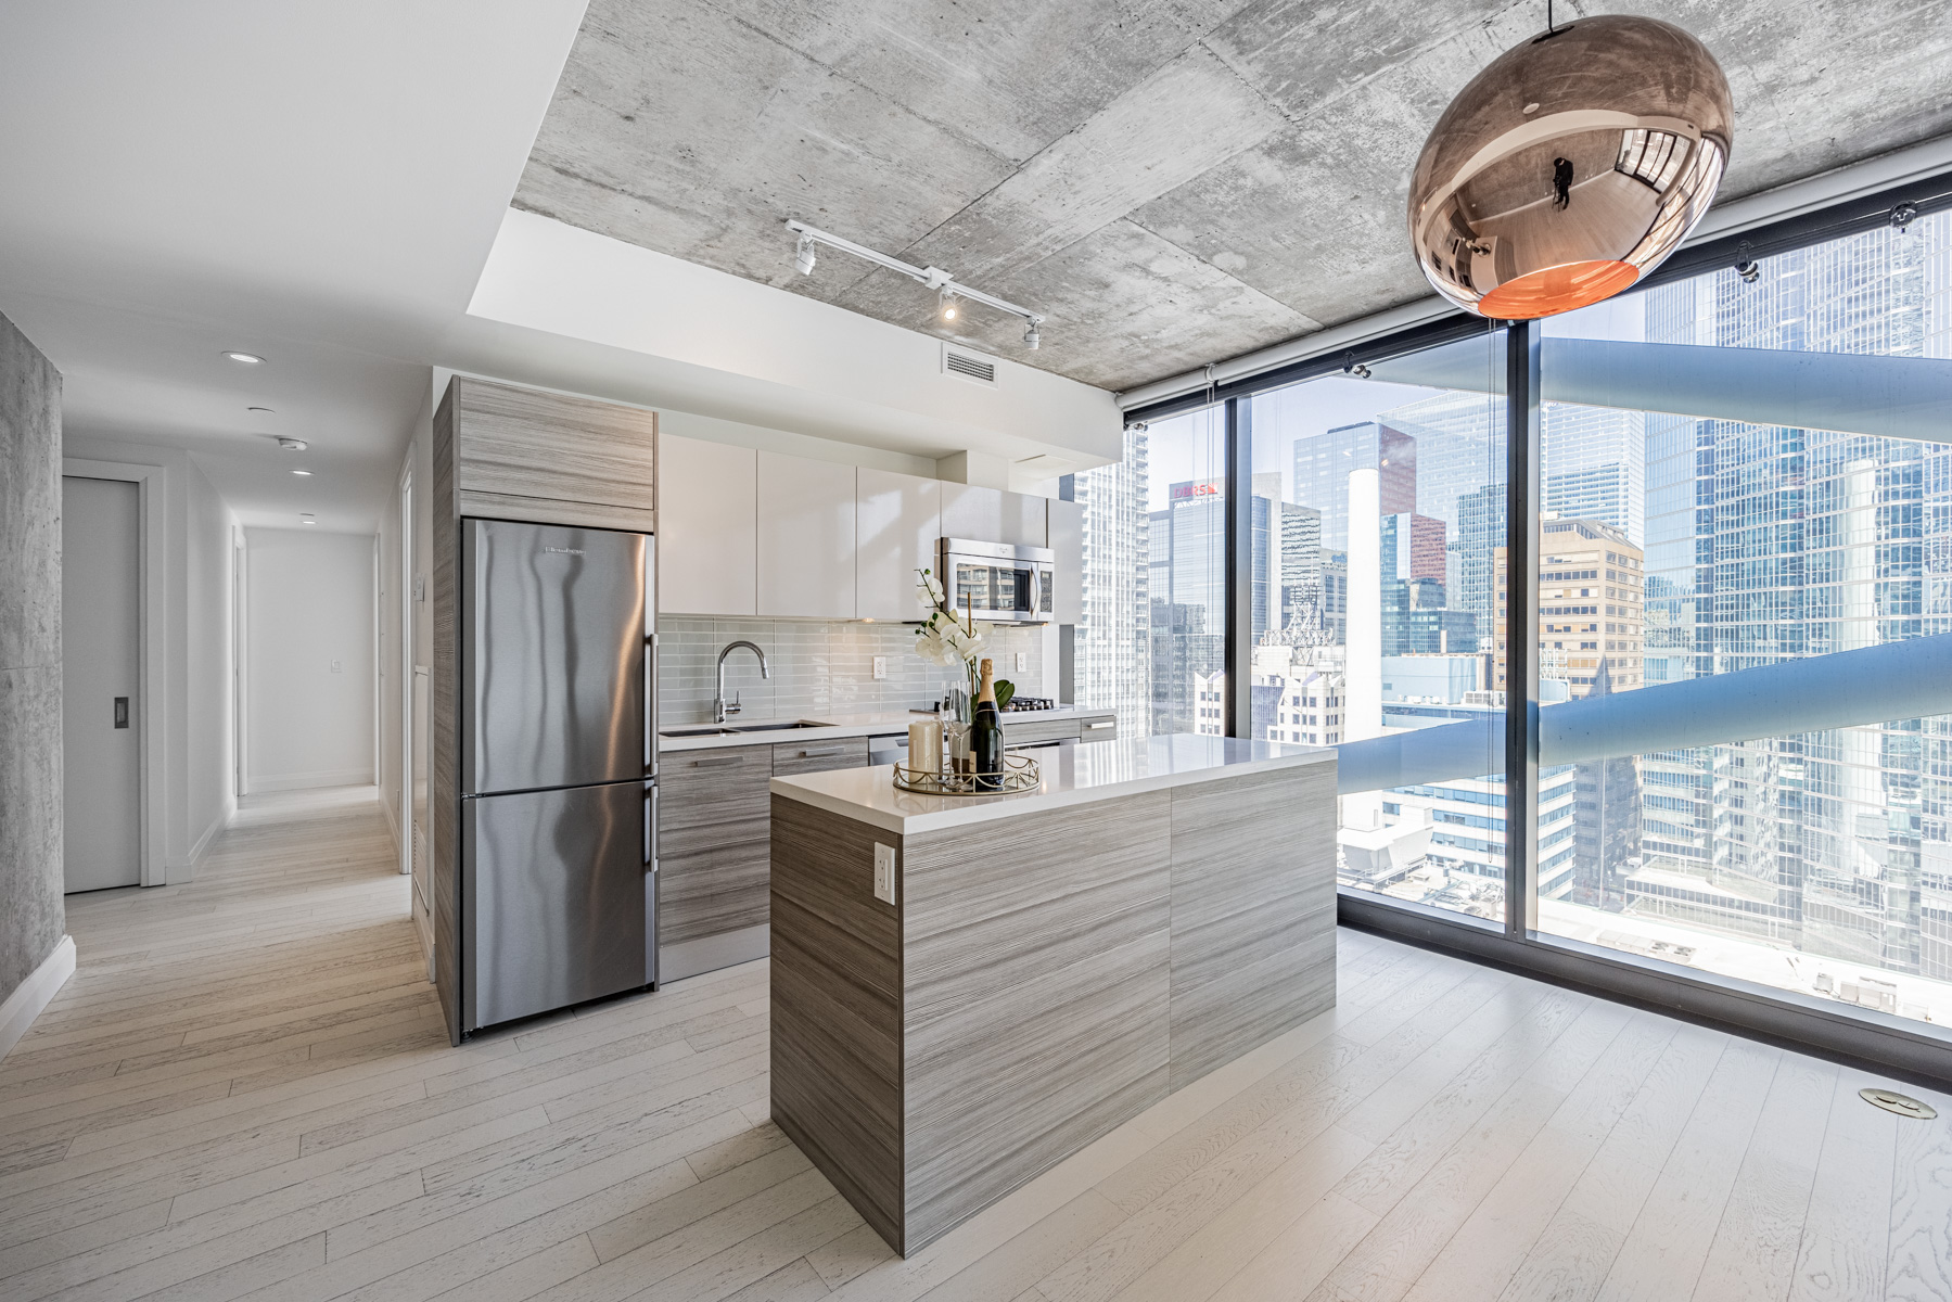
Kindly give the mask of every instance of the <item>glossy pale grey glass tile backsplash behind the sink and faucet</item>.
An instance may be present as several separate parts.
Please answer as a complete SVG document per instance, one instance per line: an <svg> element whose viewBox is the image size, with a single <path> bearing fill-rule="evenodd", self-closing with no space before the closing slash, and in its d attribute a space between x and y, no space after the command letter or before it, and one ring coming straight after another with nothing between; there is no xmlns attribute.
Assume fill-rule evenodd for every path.
<svg viewBox="0 0 1952 1302"><path fill-rule="evenodd" d="M914 625L666 615L658 621L660 726L711 722L718 648L740 638L763 646L773 668L773 677L761 679L752 652L736 650L726 660L726 699L740 699L742 718L908 711L962 685L960 673L915 654ZM1027 671L1015 671L1017 652L1029 656ZM988 654L997 662L996 675L1019 693L1050 695L1042 691L1042 629L996 627ZM888 662L888 677L880 681L874 656Z"/></svg>

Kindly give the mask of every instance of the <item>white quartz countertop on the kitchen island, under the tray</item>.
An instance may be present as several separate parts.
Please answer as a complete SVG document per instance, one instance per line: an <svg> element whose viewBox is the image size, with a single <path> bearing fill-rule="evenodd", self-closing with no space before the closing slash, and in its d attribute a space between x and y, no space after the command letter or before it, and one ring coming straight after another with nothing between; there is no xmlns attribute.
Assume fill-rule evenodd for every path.
<svg viewBox="0 0 1952 1302"><path fill-rule="evenodd" d="M1333 746L1286 746L1216 736L1152 736L1035 752L1042 785L996 796L919 796L896 791L894 765L775 777L773 794L802 800L896 835L937 832L1033 810L1111 800L1220 777L1335 763Z"/></svg>

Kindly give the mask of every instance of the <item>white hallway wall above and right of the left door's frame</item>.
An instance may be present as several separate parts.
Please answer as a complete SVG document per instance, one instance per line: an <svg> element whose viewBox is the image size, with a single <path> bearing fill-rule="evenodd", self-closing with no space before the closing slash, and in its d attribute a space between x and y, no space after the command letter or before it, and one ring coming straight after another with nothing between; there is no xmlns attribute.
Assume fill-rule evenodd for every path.
<svg viewBox="0 0 1952 1302"><path fill-rule="evenodd" d="M230 625L232 529L236 513L191 453L70 433L62 457L160 467L152 504L164 515L162 646L164 699L152 714L162 734L164 785L150 812L160 818L164 878L185 882L236 812L234 634Z"/></svg>

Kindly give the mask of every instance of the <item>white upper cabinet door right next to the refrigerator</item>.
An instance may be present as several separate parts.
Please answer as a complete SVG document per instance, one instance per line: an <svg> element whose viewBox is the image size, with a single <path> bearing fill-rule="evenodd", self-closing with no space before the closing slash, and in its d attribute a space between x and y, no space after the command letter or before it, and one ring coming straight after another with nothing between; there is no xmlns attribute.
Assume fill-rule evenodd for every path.
<svg viewBox="0 0 1952 1302"><path fill-rule="evenodd" d="M757 615L759 453L658 439L658 609Z"/></svg>

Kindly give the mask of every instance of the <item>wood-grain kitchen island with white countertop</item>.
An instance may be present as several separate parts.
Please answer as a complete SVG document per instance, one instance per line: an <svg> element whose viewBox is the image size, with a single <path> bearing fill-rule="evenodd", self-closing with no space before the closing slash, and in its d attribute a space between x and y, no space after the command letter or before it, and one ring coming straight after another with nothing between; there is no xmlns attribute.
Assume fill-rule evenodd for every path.
<svg viewBox="0 0 1952 1302"><path fill-rule="evenodd" d="M771 781L773 1120L904 1255L1335 1003L1333 750L1038 757Z"/></svg>

